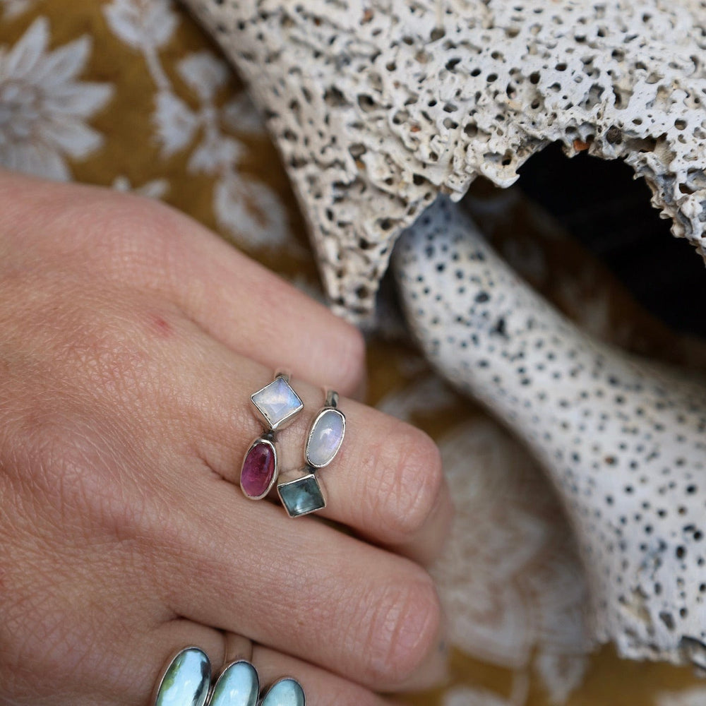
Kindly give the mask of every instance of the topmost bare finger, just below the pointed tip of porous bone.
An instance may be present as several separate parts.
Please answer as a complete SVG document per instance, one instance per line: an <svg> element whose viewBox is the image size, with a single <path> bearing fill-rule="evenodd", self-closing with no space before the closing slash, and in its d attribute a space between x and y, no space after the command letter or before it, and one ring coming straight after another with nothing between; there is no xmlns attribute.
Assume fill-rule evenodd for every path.
<svg viewBox="0 0 706 706"><path fill-rule="evenodd" d="M148 252L139 255L148 262L140 268L145 284L154 286L150 269L161 268L172 301L234 352L344 394L361 390L365 342L357 328L181 213L139 200L134 208L149 229Z"/></svg>

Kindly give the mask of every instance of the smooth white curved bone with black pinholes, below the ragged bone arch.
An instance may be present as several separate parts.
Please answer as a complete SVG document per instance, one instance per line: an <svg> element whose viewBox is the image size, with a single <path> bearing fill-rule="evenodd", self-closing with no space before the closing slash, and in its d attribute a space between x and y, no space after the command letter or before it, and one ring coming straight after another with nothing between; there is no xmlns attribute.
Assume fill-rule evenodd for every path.
<svg viewBox="0 0 706 706"><path fill-rule="evenodd" d="M558 314L447 198L393 268L427 357L546 467L582 549L599 642L706 664L706 388Z"/></svg>

